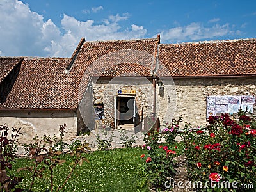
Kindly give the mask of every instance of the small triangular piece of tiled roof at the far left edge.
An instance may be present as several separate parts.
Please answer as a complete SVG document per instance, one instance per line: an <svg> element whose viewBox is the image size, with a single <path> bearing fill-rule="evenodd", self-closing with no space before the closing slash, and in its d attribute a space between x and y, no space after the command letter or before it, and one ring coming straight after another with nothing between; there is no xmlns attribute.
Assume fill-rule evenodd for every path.
<svg viewBox="0 0 256 192"><path fill-rule="evenodd" d="M0 58L0 83L15 68L22 58Z"/></svg>

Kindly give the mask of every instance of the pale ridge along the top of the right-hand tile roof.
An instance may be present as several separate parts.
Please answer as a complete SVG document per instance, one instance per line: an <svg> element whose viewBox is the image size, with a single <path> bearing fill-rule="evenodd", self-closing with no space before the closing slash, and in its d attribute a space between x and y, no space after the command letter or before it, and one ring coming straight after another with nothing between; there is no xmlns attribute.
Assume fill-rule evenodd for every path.
<svg viewBox="0 0 256 192"><path fill-rule="evenodd" d="M240 42L240 41L253 41L256 38L239 38L239 39L232 39L232 40L205 40L205 41L198 41L198 42L180 42L180 43L171 43L171 44L160 44L160 45L190 45L190 44L219 44L223 42Z"/></svg>

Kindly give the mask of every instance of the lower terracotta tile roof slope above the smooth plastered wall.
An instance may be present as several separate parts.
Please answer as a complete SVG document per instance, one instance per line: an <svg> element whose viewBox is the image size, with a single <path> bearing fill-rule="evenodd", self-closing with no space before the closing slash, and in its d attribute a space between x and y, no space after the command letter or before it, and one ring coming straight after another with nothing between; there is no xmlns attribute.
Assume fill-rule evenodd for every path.
<svg viewBox="0 0 256 192"><path fill-rule="evenodd" d="M0 108L72 108L66 58L24 58L6 102Z"/></svg>

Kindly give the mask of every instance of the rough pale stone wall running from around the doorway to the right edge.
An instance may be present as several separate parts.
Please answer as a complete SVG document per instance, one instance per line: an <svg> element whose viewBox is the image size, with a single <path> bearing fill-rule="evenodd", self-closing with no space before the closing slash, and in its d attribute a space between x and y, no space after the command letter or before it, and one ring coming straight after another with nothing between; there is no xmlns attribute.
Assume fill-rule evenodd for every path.
<svg viewBox="0 0 256 192"><path fill-rule="evenodd" d="M161 125L164 121L171 122L172 118L178 119L180 116L193 127L207 125L207 95L256 95L256 77L183 78L174 79L174 83L174 86L164 85L161 89L156 85L156 116L160 117ZM143 81L140 84L125 84L125 81L116 84L100 80L93 84L93 98L95 103L104 103L104 122L107 125L113 125L114 100L118 95L117 91L122 88L136 90L136 103L139 111L143 109L144 118L152 113L152 81L147 84Z"/></svg>

